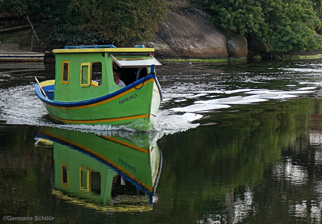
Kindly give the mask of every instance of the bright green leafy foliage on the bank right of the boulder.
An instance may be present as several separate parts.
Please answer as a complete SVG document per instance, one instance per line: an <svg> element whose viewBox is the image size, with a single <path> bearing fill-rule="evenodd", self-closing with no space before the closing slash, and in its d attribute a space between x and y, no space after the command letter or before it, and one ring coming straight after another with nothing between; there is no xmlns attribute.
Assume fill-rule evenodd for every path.
<svg viewBox="0 0 322 224"><path fill-rule="evenodd" d="M321 48L321 0L204 0L212 23L230 35L267 42L271 52L311 51Z"/></svg>

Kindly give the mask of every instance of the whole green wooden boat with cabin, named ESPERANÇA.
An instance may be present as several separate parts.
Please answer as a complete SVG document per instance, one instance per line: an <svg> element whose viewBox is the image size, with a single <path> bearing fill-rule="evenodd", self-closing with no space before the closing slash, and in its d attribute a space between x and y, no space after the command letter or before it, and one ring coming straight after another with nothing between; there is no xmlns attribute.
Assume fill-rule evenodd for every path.
<svg viewBox="0 0 322 224"><path fill-rule="evenodd" d="M66 46L53 52L55 80L37 81L35 92L55 121L114 125L156 117L163 96L153 48Z"/></svg>

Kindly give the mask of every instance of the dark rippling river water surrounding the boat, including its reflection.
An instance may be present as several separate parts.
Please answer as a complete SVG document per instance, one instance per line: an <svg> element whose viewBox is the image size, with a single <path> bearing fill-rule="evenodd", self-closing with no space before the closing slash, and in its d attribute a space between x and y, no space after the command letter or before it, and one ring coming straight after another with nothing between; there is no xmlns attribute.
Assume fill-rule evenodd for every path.
<svg viewBox="0 0 322 224"><path fill-rule="evenodd" d="M138 132L137 123L54 123L33 89L54 66L2 63L0 219L321 223L321 74L317 60L166 64L159 115ZM184 108L258 94L239 89L306 87L292 98Z"/></svg>

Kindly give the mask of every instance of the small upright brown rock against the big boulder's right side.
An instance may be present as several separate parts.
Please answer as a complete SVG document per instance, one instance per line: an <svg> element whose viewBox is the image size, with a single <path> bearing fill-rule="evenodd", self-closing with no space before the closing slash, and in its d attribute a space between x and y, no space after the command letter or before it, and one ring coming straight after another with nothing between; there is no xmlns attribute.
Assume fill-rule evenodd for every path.
<svg viewBox="0 0 322 224"><path fill-rule="evenodd" d="M247 60L247 39L242 35L232 35L227 40L228 55L231 59Z"/></svg>

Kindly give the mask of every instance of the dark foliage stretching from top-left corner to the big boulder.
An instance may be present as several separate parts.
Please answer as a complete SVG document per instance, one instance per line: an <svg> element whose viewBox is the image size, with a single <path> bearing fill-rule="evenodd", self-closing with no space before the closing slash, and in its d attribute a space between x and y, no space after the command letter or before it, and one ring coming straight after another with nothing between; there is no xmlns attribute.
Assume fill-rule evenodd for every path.
<svg viewBox="0 0 322 224"><path fill-rule="evenodd" d="M6 0L0 12L45 19L54 45L116 44L149 38L166 15L165 0Z"/></svg>

